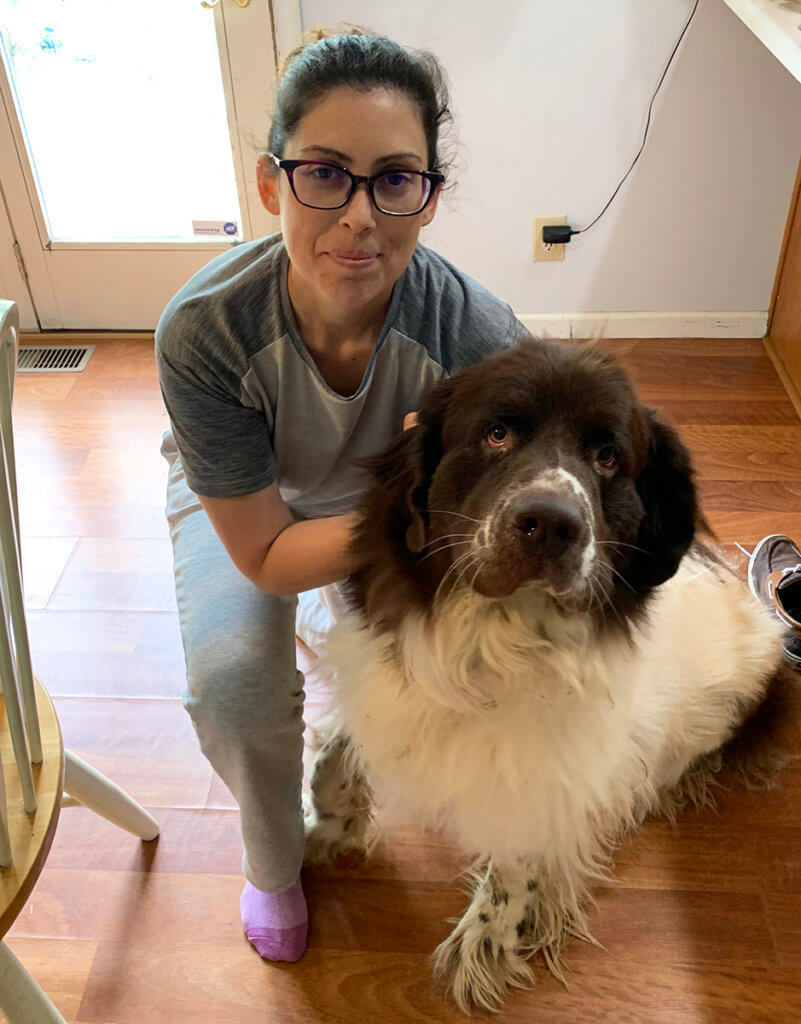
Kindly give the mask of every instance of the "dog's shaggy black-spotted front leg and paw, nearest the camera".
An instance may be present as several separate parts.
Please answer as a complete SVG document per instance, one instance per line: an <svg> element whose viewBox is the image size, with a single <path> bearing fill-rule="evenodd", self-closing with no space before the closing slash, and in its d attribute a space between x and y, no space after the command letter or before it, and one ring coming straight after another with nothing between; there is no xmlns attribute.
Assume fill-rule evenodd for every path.
<svg viewBox="0 0 801 1024"><path fill-rule="evenodd" d="M470 905L434 952L434 973L450 988L459 1009L475 1005L498 1010L510 987L531 988L525 964L533 914L531 869L524 862L500 868L493 863L473 876Z"/></svg>

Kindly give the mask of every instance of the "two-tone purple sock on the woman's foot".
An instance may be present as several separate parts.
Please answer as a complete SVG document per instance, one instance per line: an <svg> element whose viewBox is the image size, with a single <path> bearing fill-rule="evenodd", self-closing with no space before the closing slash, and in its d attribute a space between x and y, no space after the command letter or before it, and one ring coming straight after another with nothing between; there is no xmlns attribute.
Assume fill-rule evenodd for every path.
<svg viewBox="0 0 801 1024"><path fill-rule="evenodd" d="M306 948L308 914L300 879L280 893L263 893L250 882L240 900L242 927L265 959L300 959Z"/></svg>

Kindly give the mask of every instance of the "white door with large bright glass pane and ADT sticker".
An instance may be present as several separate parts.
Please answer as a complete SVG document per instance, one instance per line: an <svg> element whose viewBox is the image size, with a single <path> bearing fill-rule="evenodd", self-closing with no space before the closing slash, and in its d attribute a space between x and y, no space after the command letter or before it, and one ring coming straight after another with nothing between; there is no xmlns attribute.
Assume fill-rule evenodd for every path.
<svg viewBox="0 0 801 1024"><path fill-rule="evenodd" d="M151 329L215 253L275 229L269 6L0 0L0 185L42 328Z"/></svg>

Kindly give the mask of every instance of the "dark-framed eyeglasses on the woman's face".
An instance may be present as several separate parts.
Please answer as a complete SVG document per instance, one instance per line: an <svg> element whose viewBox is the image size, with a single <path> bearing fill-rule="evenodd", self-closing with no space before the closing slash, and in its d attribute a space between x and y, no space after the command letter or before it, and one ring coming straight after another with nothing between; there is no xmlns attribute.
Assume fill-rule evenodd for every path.
<svg viewBox="0 0 801 1024"><path fill-rule="evenodd" d="M347 206L364 181L373 205L381 213L390 217L412 217L428 206L436 187L445 181L445 175L435 171L403 168L380 174L351 174L339 164L279 160L272 154L269 156L277 167L287 172L290 188L298 203L312 210L339 210Z"/></svg>

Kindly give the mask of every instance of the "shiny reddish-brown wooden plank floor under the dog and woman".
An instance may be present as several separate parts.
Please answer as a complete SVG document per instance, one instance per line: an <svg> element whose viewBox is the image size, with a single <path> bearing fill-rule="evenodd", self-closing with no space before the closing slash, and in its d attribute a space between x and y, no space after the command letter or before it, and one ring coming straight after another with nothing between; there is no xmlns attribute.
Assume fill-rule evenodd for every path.
<svg viewBox="0 0 801 1024"><path fill-rule="evenodd" d="M720 540L801 538L801 423L761 343L614 347L692 447ZM65 809L10 946L71 1022L463 1019L427 963L463 905L461 862L415 830L391 831L367 864L305 876L298 964L261 962L242 935L238 813L179 700L152 342L100 342L82 374L22 376L15 421L35 669L67 744L140 800L162 835L139 844ZM605 950L574 943L570 986L538 968L536 991L512 995L501 1019L801 1020L801 764L777 791L723 791L719 803L717 815L652 821L627 842L619 884L591 915Z"/></svg>

